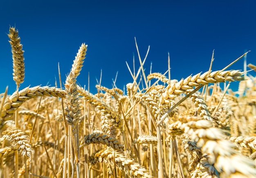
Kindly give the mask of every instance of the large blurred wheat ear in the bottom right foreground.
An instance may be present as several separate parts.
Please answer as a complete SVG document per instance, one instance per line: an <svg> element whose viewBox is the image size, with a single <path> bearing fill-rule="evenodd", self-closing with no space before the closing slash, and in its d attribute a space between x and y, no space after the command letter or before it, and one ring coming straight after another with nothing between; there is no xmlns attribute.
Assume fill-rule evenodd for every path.
<svg viewBox="0 0 256 178"><path fill-rule="evenodd" d="M168 125L171 134L189 134L204 153L210 154L210 164L220 173L220 176L247 176L255 177L255 164L249 158L240 156L234 149L232 142L225 140L224 131L214 128L208 120L190 121L182 123L177 121ZM232 164L230 164L232 162ZM243 168L242 168L243 167Z"/></svg>

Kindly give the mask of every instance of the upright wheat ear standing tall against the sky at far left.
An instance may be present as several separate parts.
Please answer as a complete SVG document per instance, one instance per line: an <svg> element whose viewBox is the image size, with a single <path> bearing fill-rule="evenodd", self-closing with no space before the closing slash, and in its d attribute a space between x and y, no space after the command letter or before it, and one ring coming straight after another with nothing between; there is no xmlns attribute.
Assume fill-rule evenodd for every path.
<svg viewBox="0 0 256 178"><path fill-rule="evenodd" d="M24 51L22 50L22 44L20 44L20 37L16 28L11 27L8 36L10 38L9 42L13 59L13 80L16 82L18 90L25 78Z"/></svg>

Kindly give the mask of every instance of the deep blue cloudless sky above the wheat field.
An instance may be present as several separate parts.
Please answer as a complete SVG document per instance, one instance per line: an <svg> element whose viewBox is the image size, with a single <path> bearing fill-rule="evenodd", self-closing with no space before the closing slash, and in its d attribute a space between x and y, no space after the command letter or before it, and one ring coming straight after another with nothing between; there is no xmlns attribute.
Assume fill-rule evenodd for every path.
<svg viewBox="0 0 256 178"><path fill-rule="evenodd" d="M171 58L171 76L177 80L209 69L215 49L213 70L224 68L246 50L247 63L256 65L256 2L252 0L226 1L0 1L0 93L9 86L9 94L16 89L12 79L11 47L7 33L9 26L19 30L25 50L25 82L29 85L55 86L58 62L62 81L70 72L72 62L83 42L88 44L87 56L78 78L96 92L96 78L102 69L102 85L112 88L132 82L126 61L135 68L139 60L134 37L141 58L148 45L146 74L150 63L152 72L164 73ZM243 60L230 69L242 69ZM255 76L255 72L251 72ZM59 87L59 83L58 83ZM236 90L237 84L231 85Z"/></svg>

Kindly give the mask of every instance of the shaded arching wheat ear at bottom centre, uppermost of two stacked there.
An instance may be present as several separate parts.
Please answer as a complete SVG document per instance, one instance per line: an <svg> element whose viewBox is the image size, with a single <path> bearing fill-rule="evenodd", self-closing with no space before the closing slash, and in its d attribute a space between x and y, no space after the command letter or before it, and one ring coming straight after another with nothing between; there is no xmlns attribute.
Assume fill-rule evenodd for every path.
<svg viewBox="0 0 256 178"><path fill-rule="evenodd" d="M116 138L110 137L104 133L94 133L85 136L80 143L80 148L95 143L107 145L117 151L124 151L124 145L122 145Z"/></svg>

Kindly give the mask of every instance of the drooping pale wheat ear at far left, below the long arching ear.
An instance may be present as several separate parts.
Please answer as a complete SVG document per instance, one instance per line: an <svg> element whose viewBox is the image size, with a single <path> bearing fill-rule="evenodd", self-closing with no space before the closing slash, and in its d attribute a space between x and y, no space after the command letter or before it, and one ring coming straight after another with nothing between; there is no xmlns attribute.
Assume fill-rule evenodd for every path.
<svg viewBox="0 0 256 178"><path fill-rule="evenodd" d="M31 156L31 145L29 145L29 136L18 128L3 131L3 138L10 140L13 146L18 149L22 156Z"/></svg>

